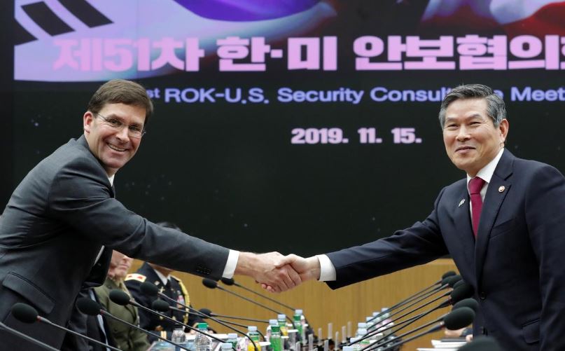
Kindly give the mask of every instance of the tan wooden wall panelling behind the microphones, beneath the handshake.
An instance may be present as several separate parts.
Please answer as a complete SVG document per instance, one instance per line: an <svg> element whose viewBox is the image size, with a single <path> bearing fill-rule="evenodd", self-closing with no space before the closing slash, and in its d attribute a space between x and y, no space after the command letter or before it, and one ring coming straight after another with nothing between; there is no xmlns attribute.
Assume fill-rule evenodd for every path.
<svg viewBox="0 0 565 351"><path fill-rule="evenodd" d="M132 269L139 267L139 261L134 261ZM326 284L320 282L307 282L300 287L287 291L282 294L268 294L261 291L260 287L247 277L235 277L239 284L245 287L256 289L261 294L268 294L282 303L291 305L295 308L302 308L309 319L314 331L318 328L323 329L323 338L327 338L328 322L333 323L333 332L340 331L343 325L351 321L353 329L356 323L374 310L381 307L393 305L403 298L428 287L447 270L456 270L454 263L450 259L439 259L424 266L417 266L400 272L392 273L384 277L377 277L372 280L354 284L342 289L332 290ZM274 313L264 310L249 302L243 301L224 291L210 290L202 285L202 278L186 273L174 273L185 282L190 292L190 301L195 308L209 308L212 312L223 315L235 315L253 317L258 319L276 318ZM249 293L237 287L228 287L238 294L256 299L260 303L265 303L274 310L291 315L291 311L267 301L259 296ZM435 305L435 303L433 304ZM438 317L443 313L449 312L448 308L440 310L431 316ZM433 317L427 317L429 321ZM242 322L246 324L246 322ZM213 324L214 325L214 324ZM419 325L419 324L417 324ZM225 331L223 326L214 325L217 331ZM264 326L263 326L264 329ZM407 330L410 330L407 328ZM353 330L354 332L355 330ZM427 338L414 340L404 347L403 350L416 350L416 347L430 347L431 338L440 338L442 332L431 334ZM341 336L340 336L341 337Z"/></svg>

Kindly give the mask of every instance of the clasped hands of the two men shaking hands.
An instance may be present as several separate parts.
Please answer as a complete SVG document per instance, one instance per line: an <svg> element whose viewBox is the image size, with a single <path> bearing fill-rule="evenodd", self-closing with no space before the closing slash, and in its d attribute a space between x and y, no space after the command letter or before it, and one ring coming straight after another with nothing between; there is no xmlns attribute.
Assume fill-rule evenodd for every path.
<svg viewBox="0 0 565 351"><path fill-rule="evenodd" d="M278 252L240 252L235 274L253 277L267 291L281 292L307 280L319 280L320 263L316 256L305 259L295 254L283 256Z"/></svg>

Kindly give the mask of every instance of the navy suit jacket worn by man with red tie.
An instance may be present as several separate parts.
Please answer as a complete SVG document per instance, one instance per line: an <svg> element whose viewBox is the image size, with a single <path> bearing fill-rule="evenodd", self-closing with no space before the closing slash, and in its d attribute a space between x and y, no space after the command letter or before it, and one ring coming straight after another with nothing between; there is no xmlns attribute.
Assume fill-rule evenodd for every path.
<svg viewBox="0 0 565 351"><path fill-rule="evenodd" d="M459 205L461 200L463 205ZM565 178L503 152L484 198L477 242L466 179L446 186L423 222L328 254L333 289L451 254L475 287L475 333L505 350L565 350Z"/></svg>

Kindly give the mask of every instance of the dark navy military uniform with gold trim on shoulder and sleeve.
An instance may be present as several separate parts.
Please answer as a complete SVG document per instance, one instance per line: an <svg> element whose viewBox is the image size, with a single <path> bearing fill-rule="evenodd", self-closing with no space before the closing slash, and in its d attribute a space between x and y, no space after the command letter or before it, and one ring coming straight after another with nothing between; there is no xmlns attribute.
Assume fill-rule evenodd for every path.
<svg viewBox="0 0 565 351"><path fill-rule="evenodd" d="M186 290L183 282L181 282L179 278L171 275L169 277L169 280L167 281L167 284L164 285L155 270L151 266L149 266L148 263L144 263L136 273L128 274L125 278L125 285L127 289L130 290L132 297L140 305L151 308L151 304L157 299L155 296L147 296L146 294L141 292L141 283L143 282L151 282L158 287L160 292L169 296L174 301L178 301L183 305L190 305L190 297L188 296L188 291ZM172 301L167 302L169 303L169 305L172 305L176 308L186 310L186 312L184 313L169 310L164 313L168 317L171 317L190 326L193 326L198 322L204 322L203 319L195 316L193 313L189 314L188 309L183 308L181 305L176 305ZM158 333L162 337L171 338L172 331L175 328L174 322L171 322L168 319L164 319L162 317L159 317L158 315L154 315L153 313L149 313L144 310L139 310L139 317L141 328L148 331L153 331L154 333ZM150 336L149 340L153 341L155 340L155 338L151 338Z"/></svg>

